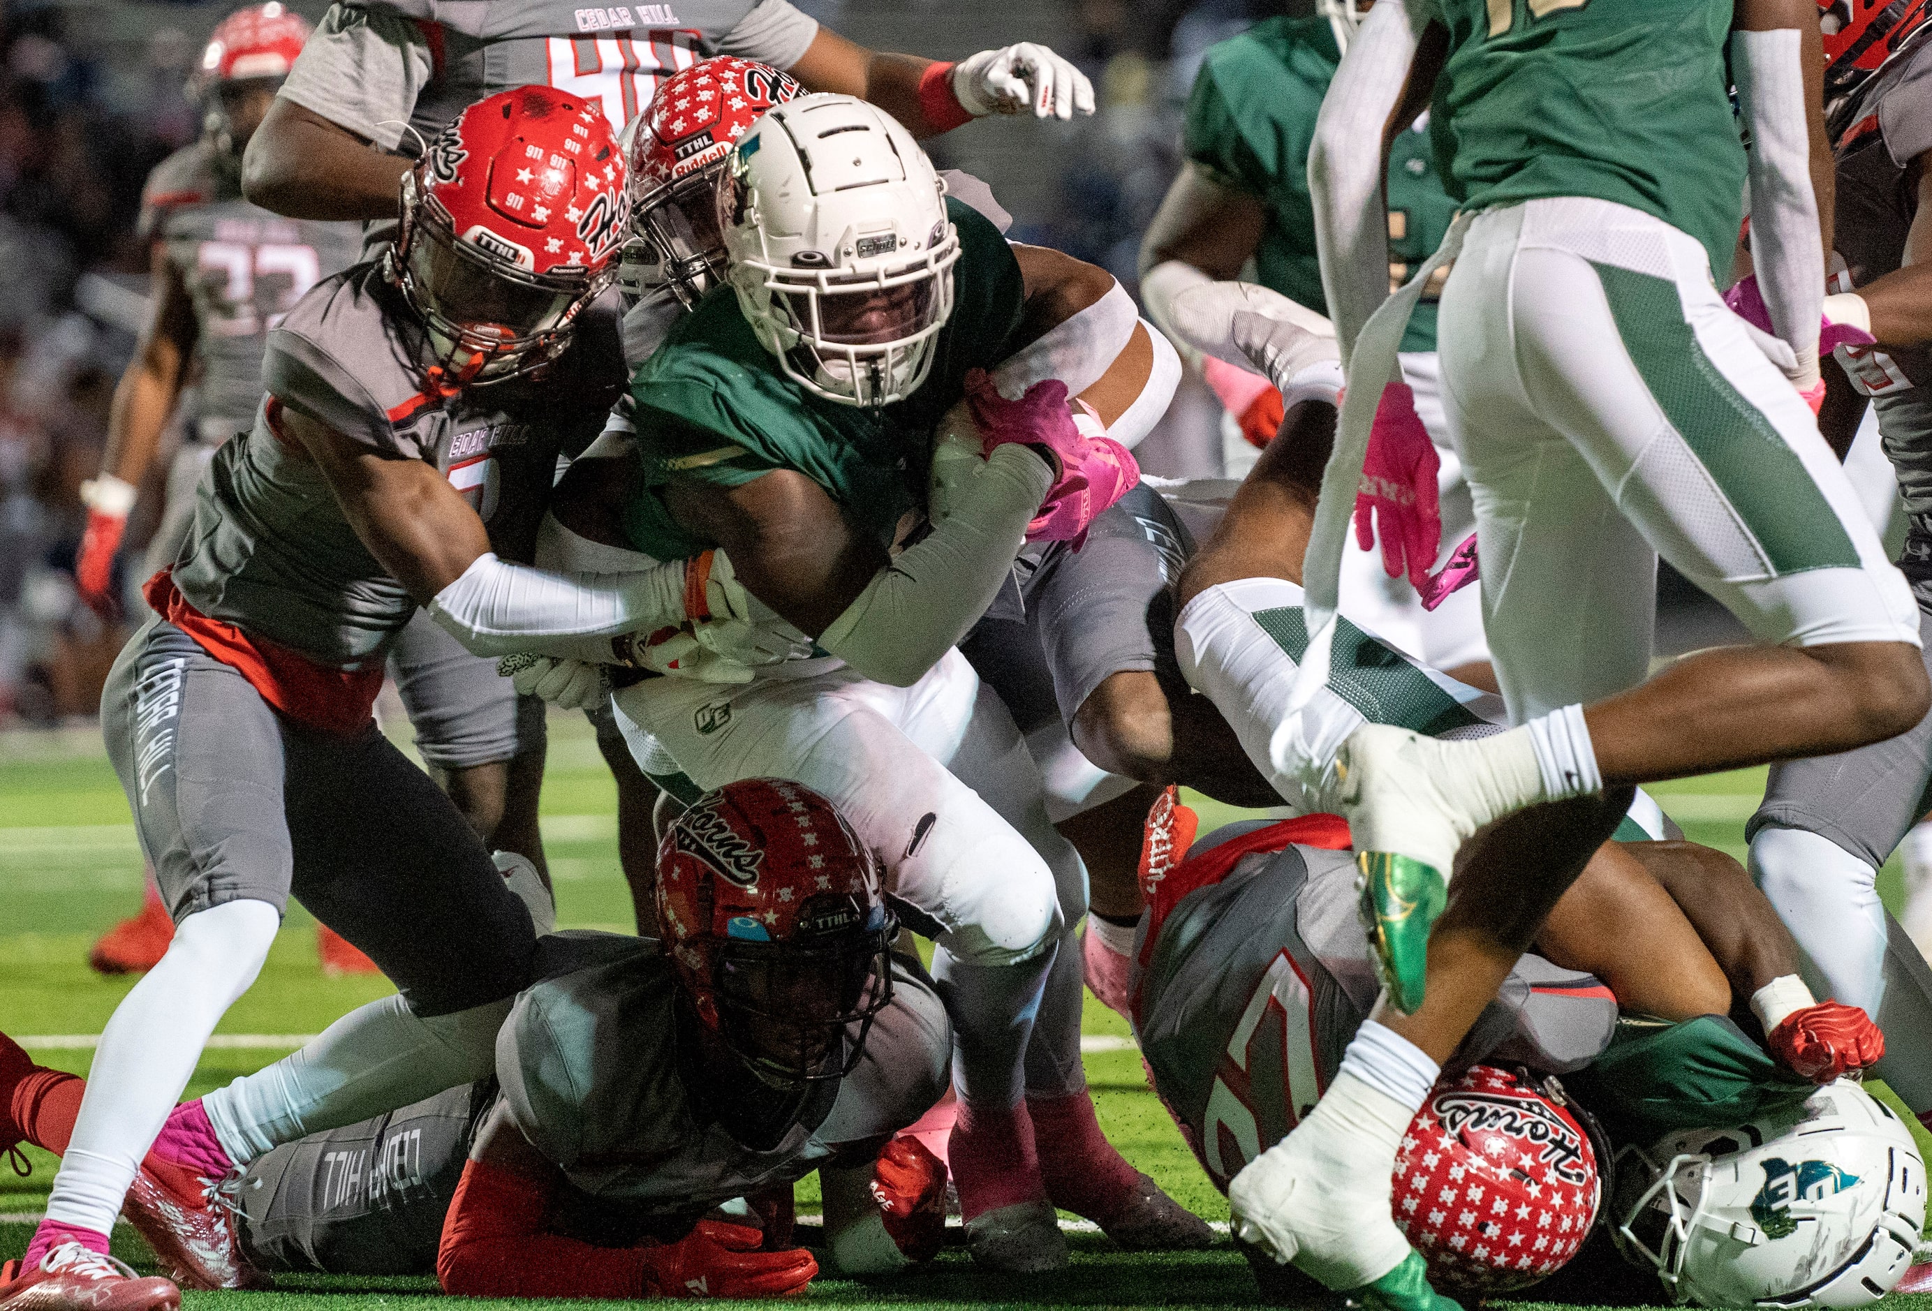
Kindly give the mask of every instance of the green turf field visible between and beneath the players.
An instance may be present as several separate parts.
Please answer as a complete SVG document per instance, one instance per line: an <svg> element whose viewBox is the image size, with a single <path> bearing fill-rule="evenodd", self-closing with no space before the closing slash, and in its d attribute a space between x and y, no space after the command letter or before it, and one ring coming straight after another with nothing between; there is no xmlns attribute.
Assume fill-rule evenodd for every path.
<svg viewBox="0 0 1932 1311"><path fill-rule="evenodd" d="M1743 857L1743 824L1762 790L1762 770L1658 788L1685 832ZM1206 803L1204 832L1227 811ZM551 720L543 795L545 848L556 880L558 925L630 931L630 896L616 863L614 792L583 720ZM1897 869L1880 882L1888 904ZM97 933L139 906L141 861L128 803L93 732L0 738L0 1031L31 1045L37 1060L85 1072L87 1041L100 1033L131 981L87 969ZM386 990L381 979L323 979L311 921L292 909L261 979L222 1021L189 1095L255 1070L290 1046L278 1039L317 1033L342 1012ZM1126 1037L1126 1023L1088 998L1088 1035ZM50 1039L50 1043L46 1041ZM1103 1045L1095 1045L1103 1046ZM1148 1091L1130 1048L1092 1050L1088 1075L1101 1124L1121 1151L1180 1203L1227 1220L1227 1201L1194 1164L1167 1112ZM1922 1141L1932 1149L1932 1139ZM29 1151L33 1174L0 1170L0 1257L17 1255L52 1180L52 1158ZM817 1209L817 1182L798 1189L800 1213ZM811 1299L837 1305L1202 1305L1256 1303L1246 1263L1233 1249L1177 1257L1128 1257L1097 1234L1072 1234L1072 1265L1024 1284L980 1278L964 1253L891 1282L821 1278ZM122 1245L126 1245L124 1251ZM126 1226L120 1255L145 1259ZM189 1294L193 1311L423 1311L431 1280L286 1278L276 1294ZM1924 1307L1907 1303L1924 1301ZM280 1303L292 1303L288 1307ZM1932 1297L1893 1297L1901 1311L1932 1311ZM1555 1307L1575 1303L1517 1303Z"/></svg>

